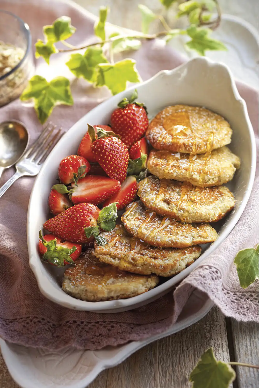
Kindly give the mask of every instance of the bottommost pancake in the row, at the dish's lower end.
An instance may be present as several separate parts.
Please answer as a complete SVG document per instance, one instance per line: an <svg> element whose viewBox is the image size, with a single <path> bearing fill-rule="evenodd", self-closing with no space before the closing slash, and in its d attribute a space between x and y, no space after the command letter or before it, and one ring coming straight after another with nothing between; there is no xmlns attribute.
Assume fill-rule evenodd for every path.
<svg viewBox="0 0 259 388"><path fill-rule="evenodd" d="M64 273L62 289L76 299L90 302L131 298L154 288L156 275L136 275L99 262L89 249Z"/></svg>

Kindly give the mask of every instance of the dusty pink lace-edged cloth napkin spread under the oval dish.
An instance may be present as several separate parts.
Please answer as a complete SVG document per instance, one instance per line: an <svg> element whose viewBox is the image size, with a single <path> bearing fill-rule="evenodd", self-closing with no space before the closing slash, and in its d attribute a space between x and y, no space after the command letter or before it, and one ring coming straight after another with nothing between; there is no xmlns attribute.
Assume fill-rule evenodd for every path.
<svg viewBox="0 0 259 388"><path fill-rule="evenodd" d="M14 12L29 24L33 44L37 38L42 37L42 26L52 24L62 15L70 16L72 24L77 28L71 43L76 45L95 39L94 18L70 3L7 0L0 3L0 8ZM37 15L40 15L40 19ZM51 58L50 77L62 74L73 80L63 65L64 59L60 61L60 55L63 54ZM158 41L144 42L133 57L137 60L137 68L144 80L184 61L177 52ZM37 61L37 74L49 76L48 70L42 59ZM109 96L105 89L95 90L85 81L72 81L71 85L74 106L58 106L51 116L52 122L65 130ZM237 83L237 87L247 102L257 135L257 92L240 83ZM1 121L23 121L30 131L31 142L42 130L33 107L19 100L2 107L0 116ZM13 173L14 168L5 171L0 184ZM258 283L243 290L239 285L233 258L240 249L252 247L258 242L258 227L254 220L258 214L258 177L242 217L216 252L203 260L174 291L146 306L118 314L70 310L56 305L40 293L29 267L26 244L26 217L33 181L31 177L20 178L0 200L0 336L4 340L48 349L70 345L92 350L142 340L165 331L176 322L195 288L201 300L205 302L209 297L225 315L243 321L257 320Z"/></svg>

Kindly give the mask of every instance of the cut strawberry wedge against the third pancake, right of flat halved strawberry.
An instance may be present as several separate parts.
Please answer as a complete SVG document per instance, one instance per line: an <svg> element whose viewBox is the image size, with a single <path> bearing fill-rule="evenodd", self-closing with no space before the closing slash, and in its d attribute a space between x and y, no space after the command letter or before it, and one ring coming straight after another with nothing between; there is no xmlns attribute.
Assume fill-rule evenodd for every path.
<svg viewBox="0 0 259 388"><path fill-rule="evenodd" d="M108 206L110 203L118 202L116 204L117 210L125 208L127 204L132 202L137 194L137 181L135 177L127 177L125 181L122 183L122 187L120 191L106 199L104 201L103 206Z"/></svg>

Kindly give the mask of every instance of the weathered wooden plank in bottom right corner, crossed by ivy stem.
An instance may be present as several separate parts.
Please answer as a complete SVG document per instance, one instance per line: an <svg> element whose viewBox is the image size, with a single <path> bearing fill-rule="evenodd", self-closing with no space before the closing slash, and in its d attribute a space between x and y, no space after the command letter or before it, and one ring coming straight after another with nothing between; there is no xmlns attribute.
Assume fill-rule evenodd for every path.
<svg viewBox="0 0 259 388"><path fill-rule="evenodd" d="M258 324L231 320L235 361L258 365ZM258 369L236 367L239 388L258 388Z"/></svg>

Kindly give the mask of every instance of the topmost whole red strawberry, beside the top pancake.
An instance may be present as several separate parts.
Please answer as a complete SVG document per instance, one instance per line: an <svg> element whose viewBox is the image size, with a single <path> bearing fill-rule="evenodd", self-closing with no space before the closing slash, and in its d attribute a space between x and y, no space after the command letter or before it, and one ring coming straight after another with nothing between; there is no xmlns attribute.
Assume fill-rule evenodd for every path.
<svg viewBox="0 0 259 388"><path fill-rule="evenodd" d="M133 102L136 98L137 90L130 100L124 98L111 114L111 127L128 148L141 139L148 129L146 109L143 104Z"/></svg>

